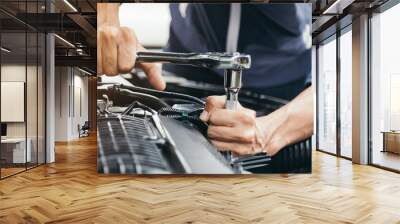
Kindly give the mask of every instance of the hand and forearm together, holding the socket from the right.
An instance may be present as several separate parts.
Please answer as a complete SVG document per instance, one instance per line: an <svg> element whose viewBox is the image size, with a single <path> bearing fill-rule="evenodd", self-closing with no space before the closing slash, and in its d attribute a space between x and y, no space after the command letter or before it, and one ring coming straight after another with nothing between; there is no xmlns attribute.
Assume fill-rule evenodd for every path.
<svg viewBox="0 0 400 224"><path fill-rule="evenodd" d="M314 103L311 87L303 90L285 106L255 117L255 112L242 106L238 111L225 108L226 98L210 96L200 119L209 124L208 136L221 150L238 154L263 151L275 155L284 147L313 134Z"/></svg>

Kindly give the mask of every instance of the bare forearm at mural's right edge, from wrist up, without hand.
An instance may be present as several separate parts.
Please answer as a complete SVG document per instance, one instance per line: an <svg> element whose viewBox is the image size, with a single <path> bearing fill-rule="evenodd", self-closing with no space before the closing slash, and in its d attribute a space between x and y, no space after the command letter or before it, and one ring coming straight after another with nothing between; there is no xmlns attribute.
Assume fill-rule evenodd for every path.
<svg viewBox="0 0 400 224"><path fill-rule="evenodd" d="M284 107L259 119L261 129L268 136L265 147L269 154L310 137L314 128L312 88L305 89Z"/></svg>

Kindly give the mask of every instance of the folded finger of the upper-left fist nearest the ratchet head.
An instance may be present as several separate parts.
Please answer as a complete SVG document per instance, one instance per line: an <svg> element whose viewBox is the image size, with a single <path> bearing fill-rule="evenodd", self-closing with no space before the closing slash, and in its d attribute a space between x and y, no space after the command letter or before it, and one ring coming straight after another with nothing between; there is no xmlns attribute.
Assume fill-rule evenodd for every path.
<svg viewBox="0 0 400 224"><path fill-rule="evenodd" d="M118 46L118 71L128 73L135 66L137 39L132 29L121 27Z"/></svg>

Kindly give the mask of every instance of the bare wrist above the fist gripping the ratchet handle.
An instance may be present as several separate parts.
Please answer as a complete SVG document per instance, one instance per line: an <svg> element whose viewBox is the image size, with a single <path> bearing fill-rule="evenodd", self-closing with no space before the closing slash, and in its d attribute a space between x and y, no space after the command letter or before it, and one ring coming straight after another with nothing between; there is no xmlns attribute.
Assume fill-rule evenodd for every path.
<svg viewBox="0 0 400 224"><path fill-rule="evenodd" d="M98 3L97 4L97 26L112 25L119 26L120 3Z"/></svg>

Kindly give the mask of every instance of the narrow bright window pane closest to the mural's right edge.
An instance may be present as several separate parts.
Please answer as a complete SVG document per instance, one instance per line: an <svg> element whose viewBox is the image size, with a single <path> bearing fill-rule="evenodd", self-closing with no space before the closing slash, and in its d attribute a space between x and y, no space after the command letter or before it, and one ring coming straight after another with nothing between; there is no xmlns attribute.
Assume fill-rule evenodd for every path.
<svg viewBox="0 0 400 224"><path fill-rule="evenodd" d="M318 149L336 153L336 39L318 48Z"/></svg>

